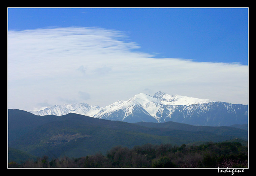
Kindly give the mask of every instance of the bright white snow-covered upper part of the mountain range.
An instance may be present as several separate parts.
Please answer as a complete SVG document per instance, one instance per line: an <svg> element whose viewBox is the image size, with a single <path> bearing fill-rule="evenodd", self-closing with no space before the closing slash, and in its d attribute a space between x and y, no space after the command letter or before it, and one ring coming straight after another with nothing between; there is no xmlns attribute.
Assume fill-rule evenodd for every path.
<svg viewBox="0 0 256 176"><path fill-rule="evenodd" d="M139 93L127 101L119 100L106 107L91 106L86 103L71 103L65 105L55 105L41 111L30 112L36 115L64 115L71 112L102 118L104 115L122 110L125 114L125 118L129 114L133 113L134 108L137 108L137 110L140 109L144 111L145 114L157 118L156 114L161 111L160 109L162 109L163 106L189 106L191 104L202 104L209 102L211 102L211 100L191 98L180 95L168 95L159 91L155 93L153 97L147 94Z"/></svg>

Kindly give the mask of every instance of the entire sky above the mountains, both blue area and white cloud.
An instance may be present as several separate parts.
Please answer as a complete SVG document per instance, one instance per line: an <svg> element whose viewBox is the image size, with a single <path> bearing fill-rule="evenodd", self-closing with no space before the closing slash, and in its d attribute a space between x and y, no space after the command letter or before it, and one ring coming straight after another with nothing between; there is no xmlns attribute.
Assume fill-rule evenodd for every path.
<svg viewBox="0 0 256 176"><path fill-rule="evenodd" d="M105 106L158 91L247 104L248 8L8 9L9 108Z"/></svg>

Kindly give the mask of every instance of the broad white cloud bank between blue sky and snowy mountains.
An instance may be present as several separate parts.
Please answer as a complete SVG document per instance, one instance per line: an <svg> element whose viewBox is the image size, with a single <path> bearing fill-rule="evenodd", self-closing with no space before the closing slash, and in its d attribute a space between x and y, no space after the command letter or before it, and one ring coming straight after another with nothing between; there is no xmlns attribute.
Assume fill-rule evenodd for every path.
<svg viewBox="0 0 256 176"><path fill-rule="evenodd" d="M158 91L248 104L248 66L154 58L121 31L8 31L8 108L70 102L106 106Z"/></svg>

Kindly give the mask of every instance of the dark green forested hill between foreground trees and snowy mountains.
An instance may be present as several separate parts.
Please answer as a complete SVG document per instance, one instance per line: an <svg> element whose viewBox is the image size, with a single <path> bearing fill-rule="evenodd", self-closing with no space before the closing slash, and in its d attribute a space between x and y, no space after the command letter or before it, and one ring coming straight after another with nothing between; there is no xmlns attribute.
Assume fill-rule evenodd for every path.
<svg viewBox="0 0 256 176"><path fill-rule="evenodd" d="M63 116L37 116L11 109L8 110L8 127L9 147L50 158L106 153L118 145L133 147L147 143L181 145L196 141L226 141L237 137L236 130L240 130L230 128L233 133L223 133L213 127L216 128L212 130L213 133L187 131L183 128L153 128L73 113ZM245 137L241 134L240 136Z"/></svg>

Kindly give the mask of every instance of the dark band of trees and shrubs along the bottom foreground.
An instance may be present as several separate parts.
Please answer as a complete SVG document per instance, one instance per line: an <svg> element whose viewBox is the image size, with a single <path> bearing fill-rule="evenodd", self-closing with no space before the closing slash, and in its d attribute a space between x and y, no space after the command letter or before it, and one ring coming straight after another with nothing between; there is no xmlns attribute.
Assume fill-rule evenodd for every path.
<svg viewBox="0 0 256 176"><path fill-rule="evenodd" d="M9 161L9 168L247 168L248 148L238 142L205 143L199 146L145 144L129 149L111 148L106 155L96 153L79 158L48 156L18 164Z"/></svg>

